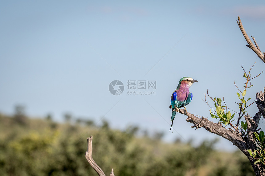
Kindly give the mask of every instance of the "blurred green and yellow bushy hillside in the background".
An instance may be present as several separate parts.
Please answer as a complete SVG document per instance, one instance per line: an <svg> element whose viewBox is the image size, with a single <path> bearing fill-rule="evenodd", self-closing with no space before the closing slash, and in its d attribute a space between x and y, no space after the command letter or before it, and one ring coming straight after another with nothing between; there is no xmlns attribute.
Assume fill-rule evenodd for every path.
<svg viewBox="0 0 265 176"><path fill-rule="evenodd" d="M110 129L107 122L65 123L29 119L21 109L14 116L0 114L0 175L96 176L85 159L87 137L93 135L93 158L106 175L116 176L251 176L251 165L240 151L216 151L214 141L198 147L190 143L164 143L161 134L136 137L138 127Z"/></svg>

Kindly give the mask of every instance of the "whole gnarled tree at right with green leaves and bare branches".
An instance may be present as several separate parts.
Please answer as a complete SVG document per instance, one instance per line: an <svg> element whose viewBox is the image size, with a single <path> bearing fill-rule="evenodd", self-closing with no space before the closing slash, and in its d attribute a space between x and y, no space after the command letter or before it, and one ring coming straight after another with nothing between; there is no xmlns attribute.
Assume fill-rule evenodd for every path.
<svg viewBox="0 0 265 176"><path fill-rule="evenodd" d="M262 53L257 45L255 38L252 37L255 45L251 42L250 38L247 36L245 29L241 23L240 18L238 17L238 25L245 37L248 45L247 47L251 48L259 58L265 63L265 53ZM253 66L252 66L253 67ZM251 67L251 68L252 68ZM243 68L243 67L242 67ZM265 175L265 140L264 140L264 132L261 128L258 128L259 120L263 116L265 119L265 88L264 92L260 91L256 94L256 100L253 103L256 103L259 111L252 117L246 111L246 109L253 103L249 104L248 101L250 98L246 98L247 89L250 88L251 82L250 80L258 77L251 77L251 68L249 72L246 72L243 68L246 82L244 89L241 91L239 88L239 92L237 93L239 97L239 112L236 115L238 118L234 119L235 114L231 114L231 111L226 106L225 102L221 100L221 98L212 98L208 92L208 96L211 100L214 101L214 106L209 105L206 100L205 102L210 106L210 115L212 118L218 119L218 123L213 123L209 121L207 118L198 118L195 115L190 114L189 112L185 112L184 109L177 110L178 112L185 114L188 116L186 119L187 122L193 123L196 129L203 127L207 131L214 133L216 135L220 135L223 138L231 141L233 145L237 146L249 159L253 170L256 176ZM264 80L262 80L264 82ZM213 108L212 108L213 107ZM234 122L233 122L234 121ZM224 127L223 127L224 125ZM228 129L226 128L228 127ZM227 165L229 167L229 164Z"/></svg>

